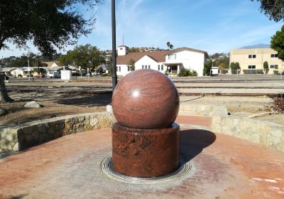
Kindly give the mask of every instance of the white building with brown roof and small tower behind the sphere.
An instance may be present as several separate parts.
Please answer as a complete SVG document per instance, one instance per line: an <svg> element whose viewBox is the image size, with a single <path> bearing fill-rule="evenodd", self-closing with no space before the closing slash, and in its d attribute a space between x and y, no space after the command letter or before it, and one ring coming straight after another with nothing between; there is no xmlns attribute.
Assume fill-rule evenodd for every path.
<svg viewBox="0 0 284 199"><path fill-rule="evenodd" d="M176 50L161 50L143 53L129 53L125 45L119 46L116 58L117 75L126 75L131 72L129 63L135 63L135 70L153 69L169 75L178 75L182 68L195 70L198 76L202 76L204 62L208 54L203 50L193 48L178 48Z"/></svg>

